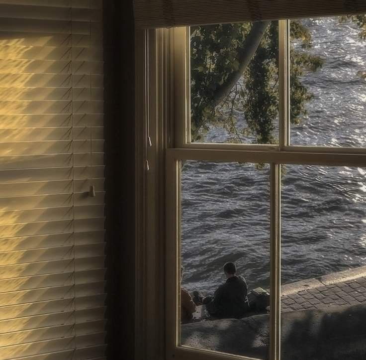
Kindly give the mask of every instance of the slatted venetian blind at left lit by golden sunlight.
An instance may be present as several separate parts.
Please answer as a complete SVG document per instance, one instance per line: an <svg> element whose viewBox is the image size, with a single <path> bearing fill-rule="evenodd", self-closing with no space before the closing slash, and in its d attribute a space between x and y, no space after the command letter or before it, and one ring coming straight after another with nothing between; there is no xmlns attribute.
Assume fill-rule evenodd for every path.
<svg viewBox="0 0 366 360"><path fill-rule="evenodd" d="M102 0L0 0L0 359L105 359Z"/></svg>

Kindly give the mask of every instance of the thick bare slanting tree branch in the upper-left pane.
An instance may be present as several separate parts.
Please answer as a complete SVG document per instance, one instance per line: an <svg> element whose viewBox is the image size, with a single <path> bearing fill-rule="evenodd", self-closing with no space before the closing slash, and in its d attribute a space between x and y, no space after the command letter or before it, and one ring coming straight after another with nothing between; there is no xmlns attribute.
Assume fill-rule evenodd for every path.
<svg viewBox="0 0 366 360"><path fill-rule="evenodd" d="M227 77L226 81L214 91L212 97L213 107L225 99L225 97L230 93L232 87L243 75L254 53L258 49L258 46L270 22L271 21L257 21L253 24L248 36L243 42L243 45L240 49L238 49L240 53L239 68L238 70L232 72Z"/></svg>

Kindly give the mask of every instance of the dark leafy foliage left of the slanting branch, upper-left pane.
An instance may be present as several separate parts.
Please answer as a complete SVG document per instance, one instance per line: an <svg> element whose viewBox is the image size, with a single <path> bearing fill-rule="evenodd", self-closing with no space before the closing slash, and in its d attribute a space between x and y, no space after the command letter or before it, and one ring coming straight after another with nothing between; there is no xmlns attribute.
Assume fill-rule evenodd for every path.
<svg viewBox="0 0 366 360"><path fill-rule="evenodd" d="M221 122L217 116L227 106L213 103L214 92L239 67L239 54L243 49L250 24L219 24L191 28L191 132L198 140L199 133L208 130L209 124ZM234 101L236 100L236 97ZM230 128L229 121L222 125Z"/></svg>

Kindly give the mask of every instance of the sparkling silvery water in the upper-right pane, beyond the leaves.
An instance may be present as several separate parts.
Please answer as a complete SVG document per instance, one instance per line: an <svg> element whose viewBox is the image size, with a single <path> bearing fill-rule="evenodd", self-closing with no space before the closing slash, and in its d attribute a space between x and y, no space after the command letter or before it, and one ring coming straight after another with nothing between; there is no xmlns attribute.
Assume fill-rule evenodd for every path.
<svg viewBox="0 0 366 360"><path fill-rule="evenodd" d="M365 147L366 79L360 73L366 72L366 41L355 24L340 23L337 17L303 23L313 38L310 53L325 61L303 78L315 98L302 123L291 126L291 143Z"/></svg>

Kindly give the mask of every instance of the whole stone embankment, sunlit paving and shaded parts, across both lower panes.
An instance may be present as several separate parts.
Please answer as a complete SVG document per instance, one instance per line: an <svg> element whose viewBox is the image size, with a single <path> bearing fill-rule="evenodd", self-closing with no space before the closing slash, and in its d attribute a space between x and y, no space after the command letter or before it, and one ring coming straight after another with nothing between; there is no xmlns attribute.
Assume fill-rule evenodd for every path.
<svg viewBox="0 0 366 360"><path fill-rule="evenodd" d="M282 360L366 359L366 266L281 287ZM269 315L182 326L184 345L268 359Z"/></svg>

